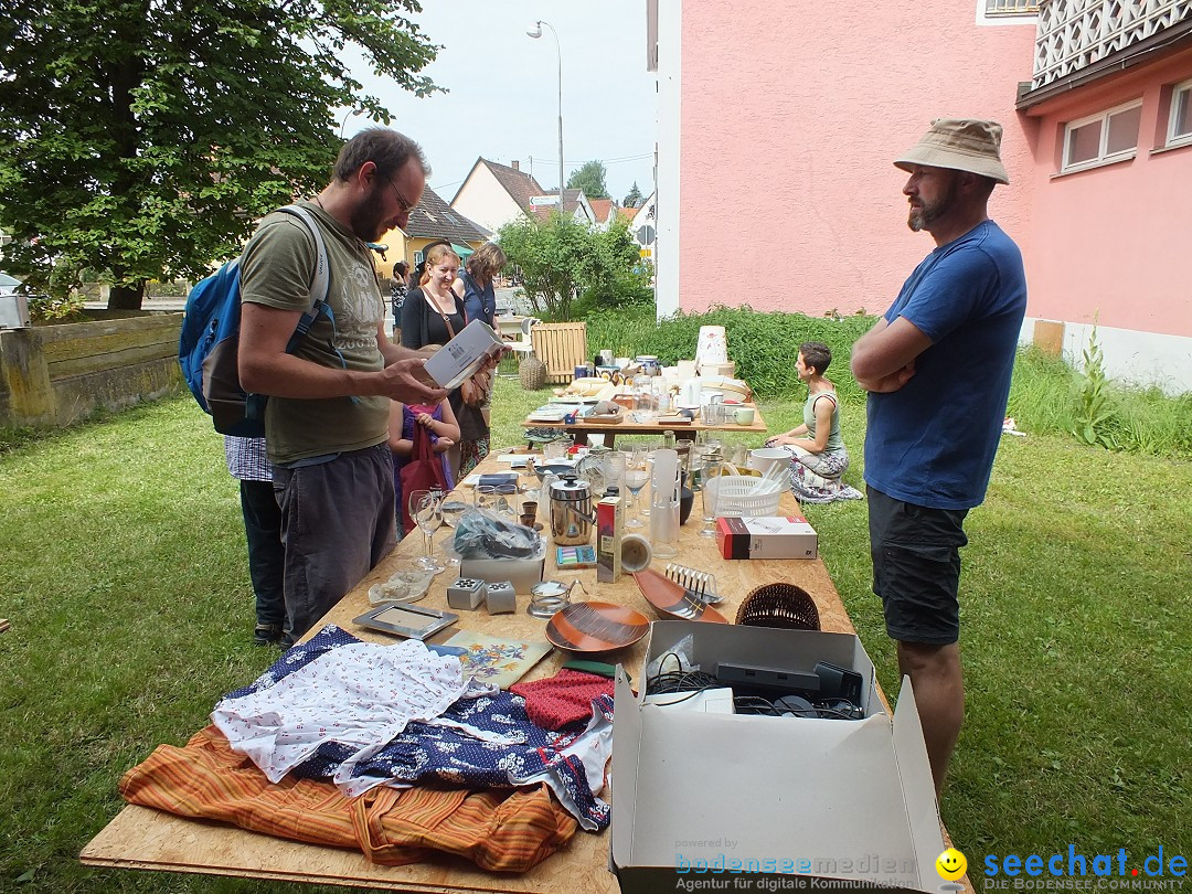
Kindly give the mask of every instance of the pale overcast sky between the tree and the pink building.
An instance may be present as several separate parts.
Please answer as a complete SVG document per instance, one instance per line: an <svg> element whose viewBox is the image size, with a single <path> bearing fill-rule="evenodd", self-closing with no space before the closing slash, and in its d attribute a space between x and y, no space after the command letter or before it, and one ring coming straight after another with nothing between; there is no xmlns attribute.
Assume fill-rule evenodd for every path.
<svg viewBox="0 0 1192 894"><path fill-rule="evenodd" d="M546 190L558 184L559 60L563 46L563 157L566 175L598 159L619 201L633 181L648 195L653 180L654 76L646 72L645 0L423 0L415 15L441 44L423 74L449 92L417 99L373 76L356 76L393 113L391 126L426 149L429 185L455 195L477 156L533 169ZM347 110L344 110L347 111ZM346 136L367 126L349 117Z"/></svg>

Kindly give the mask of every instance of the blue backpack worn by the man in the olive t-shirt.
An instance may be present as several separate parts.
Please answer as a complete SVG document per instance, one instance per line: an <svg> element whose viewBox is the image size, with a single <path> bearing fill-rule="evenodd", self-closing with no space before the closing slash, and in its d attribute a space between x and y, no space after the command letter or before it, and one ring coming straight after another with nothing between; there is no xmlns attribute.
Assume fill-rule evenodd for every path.
<svg viewBox="0 0 1192 894"><path fill-rule="evenodd" d="M327 246L315 218L305 209L286 205L315 238L317 261L310 285L311 308L298 321L286 353L292 354L313 322L322 315L335 329L335 315L327 304L329 288ZM334 342L333 342L334 343ZM265 436L265 395L249 395L240 386L240 259L195 284L186 298L186 318L178 341L178 365L191 393L211 416L216 432L238 437ZM342 362L342 358L341 358Z"/></svg>

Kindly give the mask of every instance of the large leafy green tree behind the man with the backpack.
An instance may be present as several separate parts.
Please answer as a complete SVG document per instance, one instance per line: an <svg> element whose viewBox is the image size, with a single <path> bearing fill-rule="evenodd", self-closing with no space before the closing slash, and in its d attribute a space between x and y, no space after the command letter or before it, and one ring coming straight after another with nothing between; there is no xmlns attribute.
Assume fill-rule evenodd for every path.
<svg viewBox="0 0 1192 894"><path fill-rule="evenodd" d="M66 294L198 279L321 187L340 113L389 111L343 61L426 95L417 0L0 0L5 269Z"/></svg>

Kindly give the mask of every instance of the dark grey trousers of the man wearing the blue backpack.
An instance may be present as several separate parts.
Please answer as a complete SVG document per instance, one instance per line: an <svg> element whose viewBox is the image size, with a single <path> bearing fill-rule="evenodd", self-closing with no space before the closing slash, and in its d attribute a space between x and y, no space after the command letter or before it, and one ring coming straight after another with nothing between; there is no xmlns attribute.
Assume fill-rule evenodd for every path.
<svg viewBox="0 0 1192 894"><path fill-rule="evenodd" d="M285 644L300 639L397 542L389 445L273 470L286 548Z"/></svg>

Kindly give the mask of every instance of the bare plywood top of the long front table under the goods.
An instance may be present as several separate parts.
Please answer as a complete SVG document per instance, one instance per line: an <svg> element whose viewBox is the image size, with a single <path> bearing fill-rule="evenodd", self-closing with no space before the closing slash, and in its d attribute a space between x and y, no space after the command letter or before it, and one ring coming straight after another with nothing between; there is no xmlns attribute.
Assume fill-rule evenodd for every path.
<svg viewBox="0 0 1192 894"><path fill-rule="evenodd" d="M490 457L479 471L502 468ZM470 495L465 495L468 497ZM540 519L547 509L540 510ZM782 511L797 514L797 503L783 497ZM720 558L715 540L699 536L700 519L694 513L681 530L678 555L671 561L690 565L716 576L720 592L726 597L719 606L731 621L741 600L755 586L784 581L807 590L819 608L825 631L852 633L852 623L832 585L824 563L815 560L735 560ZM446 530L436 536L442 539ZM370 608L368 588L389 578L393 571L406 567L421 551L421 536L406 538L352 592L349 592L323 622L334 622L355 637L377 642L397 640L356 627L352 619ZM659 571L664 561L654 560ZM615 602L632 607L647 617L657 613L642 597L632 576L615 584L597 583L594 570L559 572L554 563L553 545L546 559L546 577L569 582L578 578L588 598ZM427 597L420 603L432 608L447 608L446 588L454 579L451 571L434 579ZM577 591L578 594L578 588ZM579 598L584 598L579 596ZM519 595L517 613L489 615L484 608L460 611L458 626L448 627L432 641L445 642L460 628L495 635L544 640L546 621L526 614L528 597ZM322 627L322 622L318 625ZM316 628L317 629L317 628ZM613 653L596 656L600 660L622 663L634 679L640 679L645 640ZM548 654L528 675L527 679L553 676L571 656L558 650ZM247 681L246 681L247 682ZM222 693L212 693L212 704ZM148 753L147 745L147 753ZM607 793L604 793L607 795ZM461 858L442 856L406 867L381 867L370 863L361 853L290 842L246 832L238 828L201 822L161 813L145 807L125 807L83 849L81 859L88 865L172 870L209 875L269 879L278 881L323 882L352 884L406 892L509 892L523 894L540 892L582 890L600 894L617 892L615 877L608 871L609 837L579 831L560 852L521 875L497 875L477 869Z"/></svg>

